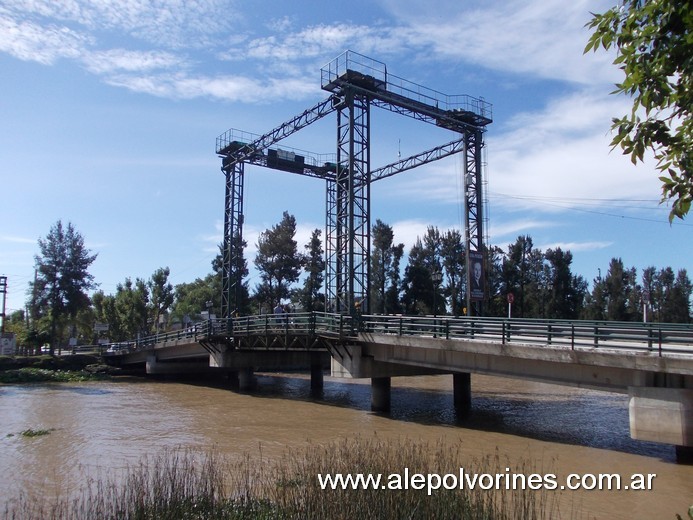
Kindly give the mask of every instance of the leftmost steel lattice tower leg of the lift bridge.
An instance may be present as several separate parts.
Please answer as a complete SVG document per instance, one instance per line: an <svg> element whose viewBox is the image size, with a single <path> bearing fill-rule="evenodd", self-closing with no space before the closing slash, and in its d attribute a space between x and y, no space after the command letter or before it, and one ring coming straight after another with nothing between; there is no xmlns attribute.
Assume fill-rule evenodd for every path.
<svg viewBox="0 0 693 520"><path fill-rule="evenodd" d="M241 303L243 262L243 178L244 163L224 168L224 261L222 265L221 315L230 318Z"/></svg>

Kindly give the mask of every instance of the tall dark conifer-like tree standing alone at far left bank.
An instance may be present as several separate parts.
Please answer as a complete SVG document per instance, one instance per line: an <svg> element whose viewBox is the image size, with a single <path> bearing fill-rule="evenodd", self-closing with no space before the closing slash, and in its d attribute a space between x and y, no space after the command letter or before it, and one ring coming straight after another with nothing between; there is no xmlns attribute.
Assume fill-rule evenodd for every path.
<svg viewBox="0 0 693 520"><path fill-rule="evenodd" d="M36 280L30 283L31 309L34 319L48 321L50 353L62 337L68 321L74 325L77 313L89 306L87 291L95 287L89 267L97 255L84 246L84 238L72 223L62 221L38 240L40 254L36 262Z"/></svg>

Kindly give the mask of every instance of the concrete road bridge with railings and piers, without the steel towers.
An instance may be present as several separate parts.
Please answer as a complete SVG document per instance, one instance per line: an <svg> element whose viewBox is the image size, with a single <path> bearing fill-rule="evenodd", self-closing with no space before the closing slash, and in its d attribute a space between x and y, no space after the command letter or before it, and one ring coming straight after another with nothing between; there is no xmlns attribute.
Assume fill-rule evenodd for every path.
<svg viewBox="0 0 693 520"><path fill-rule="evenodd" d="M255 370L323 370L370 378L374 410L390 407L396 376L453 374L454 404L471 409L471 373L629 395L634 439L675 445L693 458L693 326L294 313L210 320L186 330L119 344L115 364L149 374L225 370L241 389Z"/></svg>

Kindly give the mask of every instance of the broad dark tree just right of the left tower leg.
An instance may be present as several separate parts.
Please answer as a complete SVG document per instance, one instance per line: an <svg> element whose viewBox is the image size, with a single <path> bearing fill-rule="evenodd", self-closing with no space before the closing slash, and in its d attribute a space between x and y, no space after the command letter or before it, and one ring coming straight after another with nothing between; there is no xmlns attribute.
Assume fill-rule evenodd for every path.
<svg viewBox="0 0 693 520"><path fill-rule="evenodd" d="M262 283L256 288L256 298L270 309L289 296L289 287L301 273L304 260L298 254L295 235L296 219L285 211L281 222L258 238L255 266Z"/></svg>

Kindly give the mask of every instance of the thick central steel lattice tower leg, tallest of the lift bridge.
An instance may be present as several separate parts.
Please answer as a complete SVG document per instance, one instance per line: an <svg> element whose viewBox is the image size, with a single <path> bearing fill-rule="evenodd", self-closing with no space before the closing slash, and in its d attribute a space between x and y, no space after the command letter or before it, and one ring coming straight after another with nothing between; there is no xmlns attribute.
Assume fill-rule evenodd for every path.
<svg viewBox="0 0 693 520"><path fill-rule="evenodd" d="M327 185L326 295L334 311L368 311L370 101L347 93L337 112L337 174Z"/></svg>

